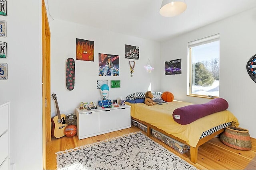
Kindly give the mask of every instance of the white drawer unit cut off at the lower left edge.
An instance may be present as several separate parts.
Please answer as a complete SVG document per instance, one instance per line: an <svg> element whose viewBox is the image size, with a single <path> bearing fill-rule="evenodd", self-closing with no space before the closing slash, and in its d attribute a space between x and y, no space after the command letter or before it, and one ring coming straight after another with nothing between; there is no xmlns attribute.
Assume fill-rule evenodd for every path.
<svg viewBox="0 0 256 170"><path fill-rule="evenodd" d="M10 170L10 102L0 104L0 170Z"/></svg>

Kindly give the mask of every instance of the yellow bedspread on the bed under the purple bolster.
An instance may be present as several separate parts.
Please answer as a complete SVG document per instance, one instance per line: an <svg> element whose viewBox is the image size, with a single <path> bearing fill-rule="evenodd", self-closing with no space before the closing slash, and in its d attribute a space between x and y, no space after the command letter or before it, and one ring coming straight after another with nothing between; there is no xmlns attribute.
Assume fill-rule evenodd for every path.
<svg viewBox="0 0 256 170"><path fill-rule="evenodd" d="M228 110L220 111L202 117L188 125L180 125L172 118L172 112L178 108L192 103L173 101L168 104L148 106L144 103L131 104L131 116L145 121L159 129L162 129L168 134L174 135L182 139L192 147L196 147L202 133L209 129L221 125L223 123L232 122L233 126L238 127L238 119Z"/></svg>

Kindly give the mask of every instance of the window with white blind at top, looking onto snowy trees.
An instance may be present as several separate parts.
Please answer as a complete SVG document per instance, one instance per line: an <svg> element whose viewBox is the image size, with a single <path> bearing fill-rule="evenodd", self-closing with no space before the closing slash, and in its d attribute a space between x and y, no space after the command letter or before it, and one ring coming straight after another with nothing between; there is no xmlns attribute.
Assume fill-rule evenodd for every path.
<svg viewBox="0 0 256 170"><path fill-rule="evenodd" d="M188 95L219 97L219 34L188 43L190 74Z"/></svg>

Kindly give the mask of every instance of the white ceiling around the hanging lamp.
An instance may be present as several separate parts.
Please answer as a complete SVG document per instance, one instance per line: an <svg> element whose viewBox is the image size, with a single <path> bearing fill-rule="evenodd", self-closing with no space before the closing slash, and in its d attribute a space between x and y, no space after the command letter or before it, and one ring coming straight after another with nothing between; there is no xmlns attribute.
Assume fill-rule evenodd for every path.
<svg viewBox="0 0 256 170"><path fill-rule="evenodd" d="M182 14L160 16L162 0L46 0L48 18L165 41L256 7L256 0L186 0Z"/></svg>

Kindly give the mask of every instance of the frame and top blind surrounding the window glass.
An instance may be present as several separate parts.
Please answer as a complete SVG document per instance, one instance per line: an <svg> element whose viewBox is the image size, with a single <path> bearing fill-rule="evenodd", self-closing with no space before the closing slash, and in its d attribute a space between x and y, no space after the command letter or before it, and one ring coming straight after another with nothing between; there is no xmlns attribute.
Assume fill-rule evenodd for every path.
<svg viewBox="0 0 256 170"><path fill-rule="evenodd" d="M201 98L219 98L219 96L206 96L206 95L202 95L202 94L193 94L192 93L192 47L196 47L199 45L204 45L207 43L212 43L215 41L220 41L220 34L215 34L215 35L211 35L208 37L204 37L201 39L197 39L195 41L190 41L188 42L188 90L187 90L187 96L194 96L194 97L201 97ZM220 43L220 42L219 42ZM220 52L220 51L219 51ZM219 57L219 62L220 62L220 57ZM219 72L220 72L220 68L219 68ZM220 73L219 73L220 74ZM220 90L219 90L220 93Z"/></svg>

